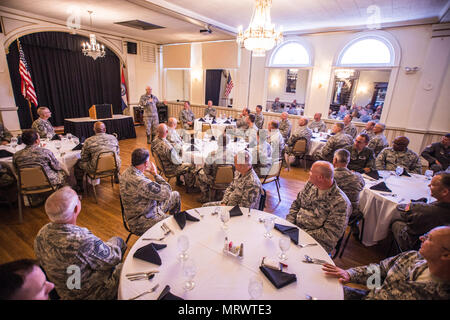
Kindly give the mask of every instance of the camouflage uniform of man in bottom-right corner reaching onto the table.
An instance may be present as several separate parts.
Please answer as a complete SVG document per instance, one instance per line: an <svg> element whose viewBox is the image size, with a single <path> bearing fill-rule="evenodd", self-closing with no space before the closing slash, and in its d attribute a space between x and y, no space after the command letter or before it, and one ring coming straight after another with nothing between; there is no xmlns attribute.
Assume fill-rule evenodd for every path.
<svg viewBox="0 0 450 320"><path fill-rule="evenodd" d="M375 268L376 269L375 269ZM450 284L435 278L426 277L424 271L428 271L427 261L417 252L403 252L395 257L387 258L379 264L361 266L348 269L350 282L367 285L369 278L373 278L374 271L380 271L380 287L367 292L365 296L359 296L367 300L449 300ZM350 290L344 287L344 298Z"/></svg>

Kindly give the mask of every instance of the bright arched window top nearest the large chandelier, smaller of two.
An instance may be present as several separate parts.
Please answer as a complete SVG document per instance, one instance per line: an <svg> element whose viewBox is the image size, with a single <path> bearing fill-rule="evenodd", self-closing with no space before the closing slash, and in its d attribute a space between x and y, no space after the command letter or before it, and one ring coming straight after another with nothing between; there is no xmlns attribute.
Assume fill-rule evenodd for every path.
<svg viewBox="0 0 450 320"><path fill-rule="evenodd" d="M271 67L304 67L311 65L308 50L297 41L287 41L272 53Z"/></svg>

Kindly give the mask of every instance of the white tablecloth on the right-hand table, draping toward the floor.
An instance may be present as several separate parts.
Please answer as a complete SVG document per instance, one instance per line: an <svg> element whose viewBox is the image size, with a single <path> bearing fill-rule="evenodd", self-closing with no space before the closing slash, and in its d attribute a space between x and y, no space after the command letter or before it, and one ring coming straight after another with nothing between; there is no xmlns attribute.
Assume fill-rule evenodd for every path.
<svg viewBox="0 0 450 320"><path fill-rule="evenodd" d="M386 185L392 193L369 189L380 183L381 179L365 179L366 185L360 194L359 210L364 214L362 243L366 246L373 246L388 236L392 215L399 203L409 203L411 199L422 197L436 200L429 193L430 180L425 176L410 173L411 177L397 177L393 172L392 174L386 180Z"/></svg>

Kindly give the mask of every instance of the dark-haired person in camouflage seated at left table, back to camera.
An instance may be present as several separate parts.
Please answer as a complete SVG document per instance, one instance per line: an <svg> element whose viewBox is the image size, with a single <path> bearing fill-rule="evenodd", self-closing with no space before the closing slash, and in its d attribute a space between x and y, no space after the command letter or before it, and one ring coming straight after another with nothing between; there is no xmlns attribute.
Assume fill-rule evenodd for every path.
<svg viewBox="0 0 450 320"><path fill-rule="evenodd" d="M39 134L34 129L25 130L22 133L22 141L26 144L25 149L17 151L13 156L13 162L18 167L32 167L41 165L55 187L60 187L67 182L66 173L49 149L41 148Z"/></svg>

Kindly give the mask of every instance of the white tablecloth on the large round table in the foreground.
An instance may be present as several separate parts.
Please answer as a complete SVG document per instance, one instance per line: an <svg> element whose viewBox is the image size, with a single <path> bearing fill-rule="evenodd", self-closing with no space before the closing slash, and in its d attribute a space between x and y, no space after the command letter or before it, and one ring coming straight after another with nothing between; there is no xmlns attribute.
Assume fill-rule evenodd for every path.
<svg viewBox="0 0 450 320"><path fill-rule="evenodd" d="M139 299L155 300L161 294L166 285L170 286L170 292L185 300L248 300L249 279L258 275L263 281L263 293L260 299L264 300L303 300L305 294L318 299L342 300L342 285L336 278L327 277L322 271L322 266L302 262L304 255L312 258L326 260L334 264L325 250L320 246L300 248L291 241L287 251L288 265L284 272L295 273L297 281L281 289L276 287L260 271L259 266L263 257L276 258L281 252L278 241L281 232L272 230L272 238L264 237L264 224L259 222L262 217L275 217L275 223L293 226L288 221L263 211L251 210L248 217L248 208L241 208L244 215L231 217L228 221L228 230L222 229L222 222L218 215L211 213L216 207L197 208L203 214L200 218L193 209L188 213L200 219L199 222L187 221L183 230L180 229L175 219L171 216L160 221L147 230L130 249L123 264L120 275L118 297L121 300L130 299L159 284L158 289L146 294ZM225 207L231 209L231 207ZM162 241L147 241L143 238L160 238L163 236L161 224L165 222L174 234L169 234ZM183 284L185 278L182 272L182 262L177 260L177 239L180 235L189 238L189 258L193 259L197 273L194 277L195 288L185 291ZM235 245L244 244L244 257L238 259L222 251L225 236ZM158 251L162 264L158 266L133 257L138 248L149 243L163 243L167 247ZM306 232L299 230L299 243L317 243ZM126 274L159 270L159 273L151 280L130 281Z"/></svg>

